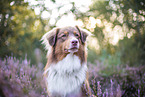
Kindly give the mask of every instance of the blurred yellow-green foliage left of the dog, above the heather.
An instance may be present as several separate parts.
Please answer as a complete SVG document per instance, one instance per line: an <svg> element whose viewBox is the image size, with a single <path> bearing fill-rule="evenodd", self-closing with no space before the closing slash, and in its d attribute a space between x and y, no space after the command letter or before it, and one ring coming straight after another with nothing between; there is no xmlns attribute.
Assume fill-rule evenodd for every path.
<svg viewBox="0 0 145 97"><path fill-rule="evenodd" d="M36 48L43 50L40 38L46 32L40 18L23 0L5 0L0 4L0 56L25 58L27 55L32 64L36 63L34 51ZM44 53L41 54L43 62L46 62Z"/></svg>

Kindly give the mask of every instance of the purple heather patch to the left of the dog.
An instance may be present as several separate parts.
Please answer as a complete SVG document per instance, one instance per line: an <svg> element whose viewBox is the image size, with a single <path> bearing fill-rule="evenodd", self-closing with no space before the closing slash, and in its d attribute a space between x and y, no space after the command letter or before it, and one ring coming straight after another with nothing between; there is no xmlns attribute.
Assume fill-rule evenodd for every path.
<svg viewBox="0 0 145 97"><path fill-rule="evenodd" d="M47 97L40 67L30 66L26 58L0 59L0 97Z"/></svg>

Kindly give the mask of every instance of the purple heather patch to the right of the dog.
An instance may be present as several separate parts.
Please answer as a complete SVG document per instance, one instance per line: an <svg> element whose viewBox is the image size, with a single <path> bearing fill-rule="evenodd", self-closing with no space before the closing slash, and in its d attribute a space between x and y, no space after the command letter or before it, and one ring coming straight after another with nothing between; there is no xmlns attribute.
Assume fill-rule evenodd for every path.
<svg viewBox="0 0 145 97"><path fill-rule="evenodd" d="M105 74L108 67L103 62L89 65L92 93L97 97L144 97L145 66L112 67L110 74ZM116 69L116 70L113 70ZM101 73L100 73L101 72Z"/></svg>

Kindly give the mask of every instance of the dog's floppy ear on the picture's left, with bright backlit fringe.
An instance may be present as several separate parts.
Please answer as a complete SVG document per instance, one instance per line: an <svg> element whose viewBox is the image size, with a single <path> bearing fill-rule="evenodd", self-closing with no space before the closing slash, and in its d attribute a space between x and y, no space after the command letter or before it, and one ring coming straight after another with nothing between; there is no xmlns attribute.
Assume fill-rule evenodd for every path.
<svg viewBox="0 0 145 97"><path fill-rule="evenodd" d="M46 45L46 49L48 49L49 45L55 46L58 32L59 28L53 28L52 30L44 34L41 40L43 41L43 44Z"/></svg>

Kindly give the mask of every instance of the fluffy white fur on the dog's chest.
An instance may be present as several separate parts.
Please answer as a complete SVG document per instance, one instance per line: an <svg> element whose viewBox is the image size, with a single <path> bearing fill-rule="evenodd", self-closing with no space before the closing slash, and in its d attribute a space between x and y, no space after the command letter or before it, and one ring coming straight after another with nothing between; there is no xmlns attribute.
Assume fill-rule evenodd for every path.
<svg viewBox="0 0 145 97"><path fill-rule="evenodd" d="M48 76L47 89L51 94L67 95L80 91L81 85L86 79L86 64L81 65L78 56L68 54L57 64L51 64L46 70Z"/></svg>

